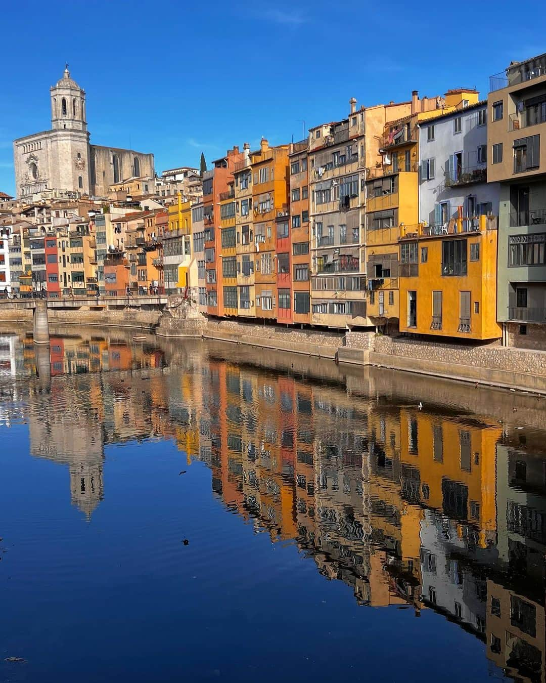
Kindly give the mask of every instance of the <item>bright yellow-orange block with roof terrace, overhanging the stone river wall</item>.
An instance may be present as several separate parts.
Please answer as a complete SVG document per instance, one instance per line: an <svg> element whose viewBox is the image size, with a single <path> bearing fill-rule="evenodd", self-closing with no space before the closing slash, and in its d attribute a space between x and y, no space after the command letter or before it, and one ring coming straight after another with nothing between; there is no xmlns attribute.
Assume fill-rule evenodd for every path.
<svg viewBox="0 0 546 683"><path fill-rule="evenodd" d="M497 339L497 219L463 219L445 234L432 226L401 226L400 331L461 339Z"/></svg>

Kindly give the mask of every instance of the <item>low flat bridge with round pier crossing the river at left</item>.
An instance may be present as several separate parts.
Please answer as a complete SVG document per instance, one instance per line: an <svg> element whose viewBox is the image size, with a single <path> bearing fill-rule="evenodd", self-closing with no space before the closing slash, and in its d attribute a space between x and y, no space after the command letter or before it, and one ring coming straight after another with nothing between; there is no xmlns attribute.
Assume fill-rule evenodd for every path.
<svg viewBox="0 0 546 683"><path fill-rule="evenodd" d="M148 296L68 296L64 298L1 298L2 309L33 310L33 339L35 344L49 344L48 309L119 311L139 308L142 311L162 311L169 297L165 294Z"/></svg>

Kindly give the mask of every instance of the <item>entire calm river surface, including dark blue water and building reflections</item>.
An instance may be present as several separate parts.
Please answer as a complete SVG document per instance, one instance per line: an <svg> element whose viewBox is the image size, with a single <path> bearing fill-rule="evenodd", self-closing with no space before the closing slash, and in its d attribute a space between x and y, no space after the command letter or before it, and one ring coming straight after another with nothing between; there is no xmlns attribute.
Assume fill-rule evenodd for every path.
<svg viewBox="0 0 546 683"><path fill-rule="evenodd" d="M6 328L0 440L0 680L546 680L545 400Z"/></svg>

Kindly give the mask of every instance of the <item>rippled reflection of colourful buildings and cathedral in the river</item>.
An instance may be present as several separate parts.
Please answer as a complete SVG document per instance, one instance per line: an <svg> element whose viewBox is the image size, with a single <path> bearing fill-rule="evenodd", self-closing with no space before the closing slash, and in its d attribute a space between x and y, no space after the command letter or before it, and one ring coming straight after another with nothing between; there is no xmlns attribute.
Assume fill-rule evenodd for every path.
<svg viewBox="0 0 546 683"><path fill-rule="evenodd" d="M108 490L105 444L172 439L229 510L359 604L434 610L507 675L546 680L540 400L130 333L48 350L5 335L0 351L1 419L26 421L31 455L68 466L87 518Z"/></svg>

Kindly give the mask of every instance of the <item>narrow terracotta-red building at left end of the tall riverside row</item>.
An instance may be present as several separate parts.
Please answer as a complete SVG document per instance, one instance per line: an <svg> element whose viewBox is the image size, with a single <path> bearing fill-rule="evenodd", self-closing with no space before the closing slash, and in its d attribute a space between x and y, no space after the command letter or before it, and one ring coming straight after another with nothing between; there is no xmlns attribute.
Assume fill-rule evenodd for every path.
<svg viewBox="0 0 546 683"><path fill-rule="evenodd" d="M235 145L226 156L213 161L210 171L203 173L203 227L205 233L205 288L207 314L224 316L222 283L222 234L220 225L220 193L228 190L233 170L243 154Z"/></svg>

